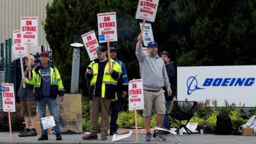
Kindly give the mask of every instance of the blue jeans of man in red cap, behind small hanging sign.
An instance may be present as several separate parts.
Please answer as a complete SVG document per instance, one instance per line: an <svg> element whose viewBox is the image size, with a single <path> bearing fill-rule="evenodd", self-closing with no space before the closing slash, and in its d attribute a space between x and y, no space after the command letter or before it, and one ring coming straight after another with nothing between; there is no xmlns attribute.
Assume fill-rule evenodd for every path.
<svg viewBox="0 0 256 144"><path fill-rule="evenodd" d="M40 102L37 102L39 118L40 118L41 133L47 134L47 130L48 130L48 129L46 129L46 130L43 129L43 125L41 122L41 118L45 117L46 104L49 108L51 115L54 118L54 121L55 121L55 126L53 127L53 129L56 134L60 134L60 120L59 120L59 116L57 114L57 102L56 102L56 99L52 99L52 98L44 98L44 99L41 99Z"/></svg>

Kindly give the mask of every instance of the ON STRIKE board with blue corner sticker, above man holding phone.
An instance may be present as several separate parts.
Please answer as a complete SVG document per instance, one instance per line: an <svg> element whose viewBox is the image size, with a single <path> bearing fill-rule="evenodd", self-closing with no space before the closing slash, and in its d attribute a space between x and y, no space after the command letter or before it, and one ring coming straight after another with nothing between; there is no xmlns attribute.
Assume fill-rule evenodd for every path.
<svg viewBox="0 0 256 144"><path fill-rule="evenodd" d="M117 41L116 12L98 13L99 43Z"/></svg>

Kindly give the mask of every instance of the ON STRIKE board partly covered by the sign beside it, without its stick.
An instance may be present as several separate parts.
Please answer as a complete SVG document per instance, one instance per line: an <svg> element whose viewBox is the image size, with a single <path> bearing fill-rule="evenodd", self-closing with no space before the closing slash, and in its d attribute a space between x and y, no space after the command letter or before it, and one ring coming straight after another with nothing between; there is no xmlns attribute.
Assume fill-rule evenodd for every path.
<svg viewBox="0 0 256 144"><path fill-rule="evenodd" d="M14 57L23 57L26 55L25 46L21 44L21 34L20 30L12 31Z"/></svg>

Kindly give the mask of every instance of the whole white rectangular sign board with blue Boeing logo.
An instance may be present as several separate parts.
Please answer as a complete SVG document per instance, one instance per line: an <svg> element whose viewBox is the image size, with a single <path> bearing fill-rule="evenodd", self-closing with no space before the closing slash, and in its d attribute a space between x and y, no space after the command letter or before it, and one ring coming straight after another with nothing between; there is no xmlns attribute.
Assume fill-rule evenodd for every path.
<svg viewBox="0 0 256 144"><path fill-rule="evenodd" d="M256 65L177 67L177 98L255 107ZM215 105L215 104L214 104Z"/></svg>

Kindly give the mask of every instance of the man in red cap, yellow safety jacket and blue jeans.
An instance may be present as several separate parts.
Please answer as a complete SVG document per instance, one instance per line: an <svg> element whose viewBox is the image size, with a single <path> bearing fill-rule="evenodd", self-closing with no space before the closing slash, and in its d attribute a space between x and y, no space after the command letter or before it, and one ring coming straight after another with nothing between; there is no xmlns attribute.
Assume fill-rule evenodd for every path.
<svg viewBox="0 0 256 144"><path fill-rule="evenodd" d="M49 63L49 52L43 51L40 54L40 61L39 65L33 69L31 79L26 78L26 83L34 85L34 95L38 101L37 106L42 133L38 140L48 140L47 129L43 129L41 121L41 118L45 117L46 104L51 115L54 117L56 140L62 140L56 97L59 94L60 102L64 100L64 87L58 69ZM28 66L27 70L30 71L31 67Z"/></svg>

